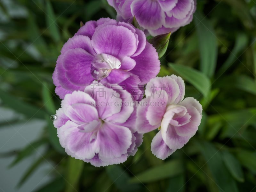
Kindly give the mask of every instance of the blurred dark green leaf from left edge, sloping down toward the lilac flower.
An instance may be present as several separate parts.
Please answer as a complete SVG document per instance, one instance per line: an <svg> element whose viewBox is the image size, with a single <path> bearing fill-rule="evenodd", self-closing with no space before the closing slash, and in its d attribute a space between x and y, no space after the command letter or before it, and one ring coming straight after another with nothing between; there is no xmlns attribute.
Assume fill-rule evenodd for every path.
<svg viewBox="0 0 256 192"><path fill-rule="evenodd" d="M0 99L4 105L14 109L18 113L24 114L27 118L44 118L45 111L42 108L36 108L2 90L0 90Z"/></svg>

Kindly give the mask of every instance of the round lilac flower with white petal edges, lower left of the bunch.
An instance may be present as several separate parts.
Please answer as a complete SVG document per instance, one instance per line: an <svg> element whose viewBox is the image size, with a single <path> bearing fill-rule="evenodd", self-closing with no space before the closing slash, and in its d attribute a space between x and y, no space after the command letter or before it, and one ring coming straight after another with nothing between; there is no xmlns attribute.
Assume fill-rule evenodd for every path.
<svg viewBox="0 0 256 192"><path fill-rule="evenodd" d="M84 92L67 94L54 121L61 146L94 166L123 163L142 143L133 106L131 94L119 85L93 82Z"/></svg>

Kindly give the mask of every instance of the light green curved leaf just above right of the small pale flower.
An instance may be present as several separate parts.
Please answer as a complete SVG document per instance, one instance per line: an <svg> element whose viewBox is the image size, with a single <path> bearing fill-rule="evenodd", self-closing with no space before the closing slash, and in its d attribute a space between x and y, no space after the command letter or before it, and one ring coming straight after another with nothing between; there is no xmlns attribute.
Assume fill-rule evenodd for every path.
<svg viewBox="0 0 256 192"><path fill-rule="evenodd" d="M192 84L205 98L209 97L211 90L211 81L203 73L178 64L170 63L169 66L188 83Z"/></svg>

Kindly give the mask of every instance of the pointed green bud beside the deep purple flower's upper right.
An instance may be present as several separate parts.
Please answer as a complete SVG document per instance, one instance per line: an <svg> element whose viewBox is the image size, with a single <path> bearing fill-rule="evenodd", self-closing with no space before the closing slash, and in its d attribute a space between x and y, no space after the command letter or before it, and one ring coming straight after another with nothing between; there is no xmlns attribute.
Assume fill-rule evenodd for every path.
<svg viewBox="0 0 256 192"><path fill-rule="evenodd" d="M169 44L170 36L171 36L171 32L152 37L151 39L148 40L148 42L156 48L159 58L164 56L164 53L166 52Z"/></svg>

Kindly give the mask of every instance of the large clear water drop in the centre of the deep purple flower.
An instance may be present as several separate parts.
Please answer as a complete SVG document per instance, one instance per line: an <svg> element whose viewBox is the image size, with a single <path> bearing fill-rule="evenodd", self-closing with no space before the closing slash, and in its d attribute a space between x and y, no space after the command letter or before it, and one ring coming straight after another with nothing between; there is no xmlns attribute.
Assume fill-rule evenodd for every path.
<svg viewBox="0 0 256 192"><path fill-rule="evenodd" d="M107 77L112 69L119 69L121 61L112 55L101 53L96 55L91 63L91 74L94 79L101 80Z"/></svg>

